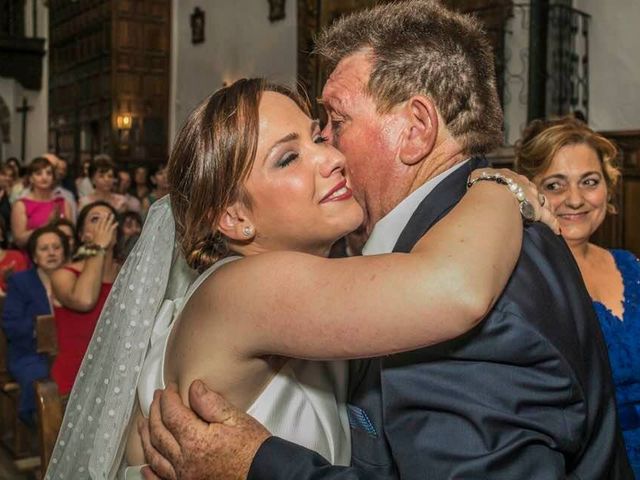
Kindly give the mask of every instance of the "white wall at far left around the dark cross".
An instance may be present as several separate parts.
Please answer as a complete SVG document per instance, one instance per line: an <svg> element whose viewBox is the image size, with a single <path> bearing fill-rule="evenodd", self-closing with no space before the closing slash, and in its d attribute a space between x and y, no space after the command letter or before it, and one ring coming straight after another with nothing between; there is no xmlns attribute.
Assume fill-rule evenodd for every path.
<svg viewBox="0 0 640 480"><path fill-rule="evenodd" d="M37 36L46 38L49 32L48 9L42 1L27 0L25 2L25 34L32 36L31 2L38 2ZM45 51L47 49L45 43ZM16 108L22 106L22 99L26 97L28 105L33 108L27 114L27 138L24 164L28 164L34 157L47 151L47 112L49 109L49 69L46 54L42 59L42 88L27 90L12 78L0 77L0 96L4 99L11 114L11 139L2 144L2 158L20 158L22 139L22 114Z"/></svg>

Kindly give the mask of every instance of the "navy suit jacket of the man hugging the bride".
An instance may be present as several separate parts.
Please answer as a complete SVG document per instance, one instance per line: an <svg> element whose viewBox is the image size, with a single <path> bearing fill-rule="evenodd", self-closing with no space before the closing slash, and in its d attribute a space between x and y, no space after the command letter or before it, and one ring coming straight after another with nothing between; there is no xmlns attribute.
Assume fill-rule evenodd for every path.
<svg viewBox="0 0 640 480"><path fill-rule="evenodd" d="M394 251L409 252L460 200L472 159L417 208ZM516 268L485 320L434 347L352 362L352 466L279 438L249 480L633 479L607 351L566 244L525 228Z"/></svg>

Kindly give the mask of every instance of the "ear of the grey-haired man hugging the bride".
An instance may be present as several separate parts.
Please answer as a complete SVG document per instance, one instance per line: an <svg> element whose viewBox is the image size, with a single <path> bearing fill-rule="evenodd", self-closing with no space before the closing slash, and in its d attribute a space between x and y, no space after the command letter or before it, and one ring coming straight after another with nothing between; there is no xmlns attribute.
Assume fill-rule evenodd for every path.
<svg viewBox="0 0 640 480"><path fill-rule="evenodd" d="M438 111L433 101L423 95L411 97L402 108L407 122L400 143L400 161L415 165L431 153L436 143Z"/></svg>

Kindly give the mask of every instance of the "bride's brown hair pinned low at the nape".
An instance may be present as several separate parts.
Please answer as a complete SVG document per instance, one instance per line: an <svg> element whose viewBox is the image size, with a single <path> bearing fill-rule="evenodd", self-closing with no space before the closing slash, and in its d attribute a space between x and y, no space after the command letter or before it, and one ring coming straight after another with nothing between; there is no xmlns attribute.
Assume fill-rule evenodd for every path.
<svg viewBox="0 0 640 480"><path fill-rule="evenodd" d="M229 253L217 230L224 209L236 201L251 208L244 182L256 156L265 91L291 98L308 114L307 103L289 88L241 79L202 102L176 137L167 167L171 207L182 252L198 271Z"/></svg>

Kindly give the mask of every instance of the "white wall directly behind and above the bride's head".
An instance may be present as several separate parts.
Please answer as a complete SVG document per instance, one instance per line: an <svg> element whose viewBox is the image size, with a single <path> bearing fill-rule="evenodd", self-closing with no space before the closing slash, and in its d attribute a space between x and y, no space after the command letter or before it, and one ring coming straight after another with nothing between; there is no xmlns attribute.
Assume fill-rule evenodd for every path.
<svg viewBox="0 0 640 480"><path fill-rule="evenodd" d="M269 2L173 0L169 138L207 95L242 77L268 77L293 85L296 79L297 7L269 21ZM205 41L191 43L190 16L205 12Z"/></svg>

